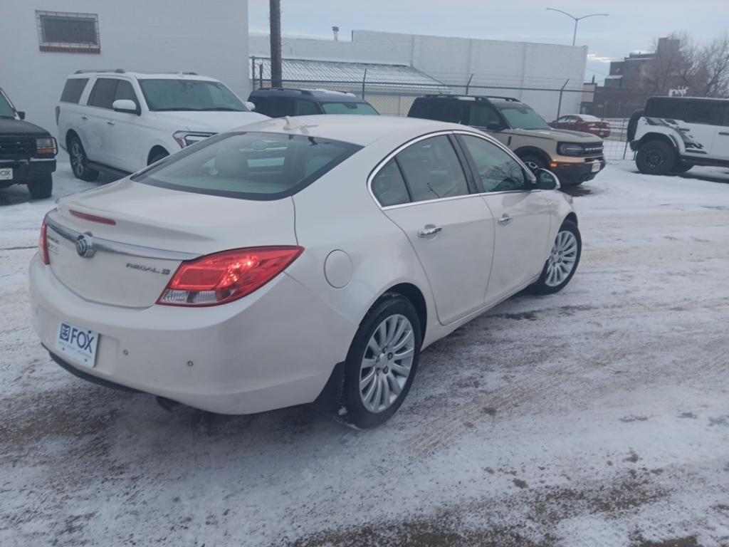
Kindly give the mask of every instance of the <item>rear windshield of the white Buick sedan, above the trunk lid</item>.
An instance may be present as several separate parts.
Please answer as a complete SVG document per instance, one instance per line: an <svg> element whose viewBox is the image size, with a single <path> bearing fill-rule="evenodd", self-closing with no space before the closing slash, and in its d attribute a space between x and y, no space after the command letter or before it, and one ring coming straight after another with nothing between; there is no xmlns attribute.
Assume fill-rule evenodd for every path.
<svg viewBox="0 0 729 547"><path fill-rule="evenodd" d="M305 135L221 133L132 179L184 192L274 200L311 185L361 148Z"/></svg>

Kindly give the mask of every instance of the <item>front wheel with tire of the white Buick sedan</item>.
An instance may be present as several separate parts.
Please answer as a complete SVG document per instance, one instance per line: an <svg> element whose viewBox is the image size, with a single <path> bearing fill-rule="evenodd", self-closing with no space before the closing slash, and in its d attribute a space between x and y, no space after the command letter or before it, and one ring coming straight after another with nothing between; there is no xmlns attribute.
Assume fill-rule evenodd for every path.
<svg viewBox="0 0 729 547"><path fill-rule="evenodd" d="M574 222L565 220L557 232L550 257L542 268L542 274L527 290L536 295L551 295L561 291L577 271L581 255L580 230Z"/></svg>

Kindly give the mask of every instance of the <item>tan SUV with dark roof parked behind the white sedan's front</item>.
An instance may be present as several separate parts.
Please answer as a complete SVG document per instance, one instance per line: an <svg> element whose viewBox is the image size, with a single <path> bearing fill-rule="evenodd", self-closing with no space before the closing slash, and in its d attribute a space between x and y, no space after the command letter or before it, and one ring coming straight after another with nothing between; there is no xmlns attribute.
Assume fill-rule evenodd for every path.
<svg viewBox="0 0 729 547"><path fill-rule="evenodd" d="M592 180L605 166L602 139L590 133L550 128L518 98L427 95L416 98L408 117L480 129L509 147L532 171L552 171L562 186Z"/></svg>

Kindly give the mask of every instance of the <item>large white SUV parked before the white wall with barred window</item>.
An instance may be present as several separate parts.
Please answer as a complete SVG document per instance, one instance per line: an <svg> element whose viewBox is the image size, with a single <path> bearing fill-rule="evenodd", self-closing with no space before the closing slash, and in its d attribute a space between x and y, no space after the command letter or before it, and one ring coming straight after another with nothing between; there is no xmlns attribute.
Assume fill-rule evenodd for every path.
<svg viewBox="0 0 729 547"><path fill-rule="evenodd" d="M267 120L217 79L194 72L76 71L55 107L74 175L123 176L208 136Z"/></svg>

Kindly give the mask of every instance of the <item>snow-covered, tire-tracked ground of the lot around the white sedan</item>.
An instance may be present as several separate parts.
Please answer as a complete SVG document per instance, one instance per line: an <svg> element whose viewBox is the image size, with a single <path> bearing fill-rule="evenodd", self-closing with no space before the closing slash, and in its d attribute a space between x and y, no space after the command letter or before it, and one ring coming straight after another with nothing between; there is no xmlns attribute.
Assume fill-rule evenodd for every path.
<svg viewBox="0 0 729 547"><path fill-rule="evenodd" d="M566 290L434 344L363 432L313 406L168 413L61 370L26 304L53 200L0 190L0 545L729 545L729 173L634 171L572 190Z"/></svg>

